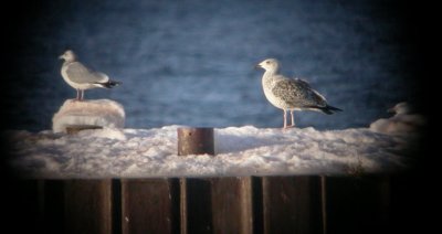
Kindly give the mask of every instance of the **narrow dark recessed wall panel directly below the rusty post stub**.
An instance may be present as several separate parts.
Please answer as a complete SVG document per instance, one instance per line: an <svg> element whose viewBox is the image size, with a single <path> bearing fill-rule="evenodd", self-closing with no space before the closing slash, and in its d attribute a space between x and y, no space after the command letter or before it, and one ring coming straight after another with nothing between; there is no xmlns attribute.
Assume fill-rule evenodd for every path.
<svg viewBox="0 0 442 234"><path fill-rule="evenodd" d="M212 233L210 179L180 179L181 234Z"/></svg>

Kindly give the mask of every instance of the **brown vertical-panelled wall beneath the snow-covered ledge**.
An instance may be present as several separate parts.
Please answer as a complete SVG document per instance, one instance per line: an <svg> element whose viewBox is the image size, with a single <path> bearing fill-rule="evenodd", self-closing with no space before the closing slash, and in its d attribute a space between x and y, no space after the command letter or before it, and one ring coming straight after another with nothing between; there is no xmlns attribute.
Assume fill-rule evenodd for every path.
<svg viewBox="0 0 442 234"><path fill-rule="evenodd" d="M380 233L401 222L404 188L391 174L22 180L14 201L41 233Z"/></svg>

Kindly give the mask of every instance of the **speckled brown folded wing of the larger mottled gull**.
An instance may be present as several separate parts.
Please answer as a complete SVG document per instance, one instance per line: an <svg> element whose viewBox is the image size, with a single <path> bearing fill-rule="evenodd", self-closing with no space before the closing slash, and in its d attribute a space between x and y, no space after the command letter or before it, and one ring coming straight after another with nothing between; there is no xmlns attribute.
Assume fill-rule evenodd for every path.
<svg viewBox="0 0 442 234"><path fill-rule="evenodd" d="M294 107L325 107L327 102L318 92L301 78L280 79L272 89L273 94Z"/></svg>

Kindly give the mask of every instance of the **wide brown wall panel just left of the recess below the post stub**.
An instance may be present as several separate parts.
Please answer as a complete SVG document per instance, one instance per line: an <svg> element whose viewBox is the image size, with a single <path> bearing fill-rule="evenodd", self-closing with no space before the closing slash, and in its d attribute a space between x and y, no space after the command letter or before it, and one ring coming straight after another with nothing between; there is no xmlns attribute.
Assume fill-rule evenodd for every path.
<svg viewBox="0 0 442 234"><path fill-rule="evenodd" d="M178 180L122 180L123 233L178 233Z"/></svg>

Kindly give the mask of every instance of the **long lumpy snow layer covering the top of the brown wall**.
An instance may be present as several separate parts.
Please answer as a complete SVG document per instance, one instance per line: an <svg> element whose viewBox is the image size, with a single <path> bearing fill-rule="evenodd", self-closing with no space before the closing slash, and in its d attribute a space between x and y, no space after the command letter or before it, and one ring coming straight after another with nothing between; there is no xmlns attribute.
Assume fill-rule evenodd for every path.
<svg viewBox="0 0 442 234"><path fill-rule="evenodd" d="M86 106L91 103L94 102ZM84 104L66 105L81 107ZM105 113L115 111L114 115L124 116L118 106L113 110L110 105L105 106ZM73 113L81 114L80 107ZM98 111L95 108L102 106L88 111ZM397 111L389 119L371 124L370 128L344 130L312 127L282 130L253 126L217 128L215 157L178 156L177 128L182 126L154 129L104 127L76 135L20 130L8 131L6 137L11 147L10 164L23 177L31 178L386 173L412 167L410 156L415 156L420 148L418 142L424 121L422 117L410 121L417 119L410 115L415 117L415 114ZM103 119L109 121L110 118ZM63 126L71 124L67 120L60 123Z"/></svg>

